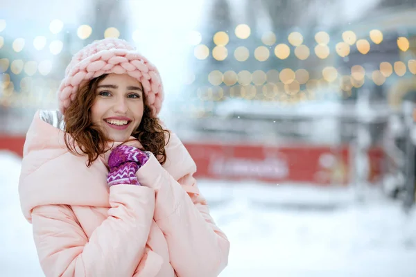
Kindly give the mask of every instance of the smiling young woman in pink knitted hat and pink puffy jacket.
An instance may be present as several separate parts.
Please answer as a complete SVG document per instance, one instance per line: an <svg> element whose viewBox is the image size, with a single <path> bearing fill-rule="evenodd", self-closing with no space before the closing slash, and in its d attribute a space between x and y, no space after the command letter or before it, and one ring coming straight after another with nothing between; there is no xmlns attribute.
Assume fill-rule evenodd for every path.
<svg viewBox="0 0 416 277"><path fill-rule="evenodd" d="M218 276L229 242L196 165L157 114L162 82L121 39L74 55L60 111L38 111L19 180L46 276Z"/></svg>

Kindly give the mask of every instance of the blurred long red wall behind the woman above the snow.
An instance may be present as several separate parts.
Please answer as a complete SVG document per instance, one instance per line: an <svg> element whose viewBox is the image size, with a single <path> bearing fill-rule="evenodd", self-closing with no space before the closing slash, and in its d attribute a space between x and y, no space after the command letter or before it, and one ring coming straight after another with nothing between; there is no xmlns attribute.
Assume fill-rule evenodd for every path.
<svg viewBox="0 0 416 277"><path fill-rule="evenodd" d="M21 156L24 136L1 136L0 150ZM211 179L259 179L279 182L307 182L317 185L349 183L349 148L326 146L227 145L184 143L198 166L197 177ZM370 150L369 181L381 177L383 152Z"/></svg>

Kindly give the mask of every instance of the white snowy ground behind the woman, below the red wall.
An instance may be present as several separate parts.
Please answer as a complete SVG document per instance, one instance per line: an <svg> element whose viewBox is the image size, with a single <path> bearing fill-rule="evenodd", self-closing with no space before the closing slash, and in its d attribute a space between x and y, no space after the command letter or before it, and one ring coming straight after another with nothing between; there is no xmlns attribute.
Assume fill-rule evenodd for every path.
<svg viewBox="0 0 416 277"><path fill-rule="evenodd" d="M19 207L20 161L0 152L0 276L43 276ZM416 276L416 215L352 190L201 180L232 243L227 276Z"/></svg>

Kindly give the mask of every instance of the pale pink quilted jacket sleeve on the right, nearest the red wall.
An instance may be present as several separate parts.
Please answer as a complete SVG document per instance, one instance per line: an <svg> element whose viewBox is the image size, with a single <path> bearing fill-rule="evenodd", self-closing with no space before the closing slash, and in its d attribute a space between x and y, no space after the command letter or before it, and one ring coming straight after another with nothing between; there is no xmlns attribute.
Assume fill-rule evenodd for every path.
<svg viewBox="0 0 416 277"><path fill-rule="evenodd" d="M168 242L177 276L214 277L227 266L229 241L209 215L207 202L193 178L195 171L196 166L176 181L150 155L137 177L141 184L155 190L155 220Z"/></svg>

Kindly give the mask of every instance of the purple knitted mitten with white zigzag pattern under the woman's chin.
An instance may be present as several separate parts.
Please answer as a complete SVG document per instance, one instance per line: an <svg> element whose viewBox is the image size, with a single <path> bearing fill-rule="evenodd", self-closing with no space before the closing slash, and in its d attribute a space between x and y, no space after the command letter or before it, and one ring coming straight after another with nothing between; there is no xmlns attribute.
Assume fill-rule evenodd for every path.
<svg viewBox="0 0 416 277"><path fill-rule="evenodd" d="M110 172L107 175L109 186L119 184L140 185L136 172L148 161L148 155L128 145L120 145L112 150L108 158Z"/></svg>

